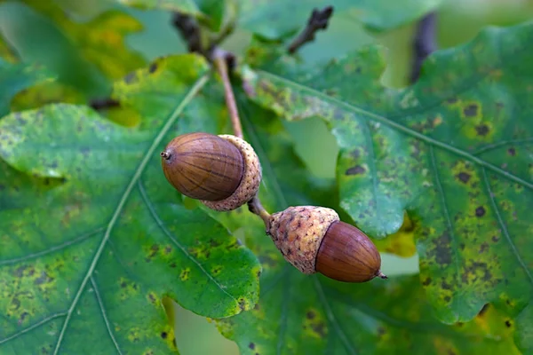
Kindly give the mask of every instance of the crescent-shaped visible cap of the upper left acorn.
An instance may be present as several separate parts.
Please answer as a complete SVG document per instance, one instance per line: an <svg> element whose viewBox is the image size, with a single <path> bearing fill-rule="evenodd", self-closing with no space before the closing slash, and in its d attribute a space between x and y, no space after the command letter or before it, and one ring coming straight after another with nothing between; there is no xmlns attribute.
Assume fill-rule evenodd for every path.
<svg viewBox="0 0 533 355"><path fill-rule="evenodd" d="M259 190L261 184L262 170L259 157L253 147L242 138L229 134L219 135L232 143L243 155L244 172L241 184L237 186L235 193L221 201L202 201L210 209L218 211L229 211L243 206L250 201Z"/></svg>

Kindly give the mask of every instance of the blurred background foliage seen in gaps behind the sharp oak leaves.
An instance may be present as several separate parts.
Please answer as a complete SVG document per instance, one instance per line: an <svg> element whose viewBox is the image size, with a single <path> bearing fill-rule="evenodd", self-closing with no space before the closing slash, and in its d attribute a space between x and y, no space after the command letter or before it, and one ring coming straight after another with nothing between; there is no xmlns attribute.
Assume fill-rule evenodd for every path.
<svg viewBox="0 0 533 355"><path fill-rule="evenodd" d="M435 3L433 0L426 1ZM274 16L270 16L272 22L266 27L254 28L254 19L268 15L261 12L267 12L267 7L254 9L255 3L241 0L241 12L238 12L236 0L226 2L227 9L231 10L227 12L238 13L239 20L237 28L222 43L222 47L238 56L243 56L246 51L252 31L262 34L265 41L275 40L268 36L275 37L276 31L282 31L282 28L276 28ZM216 1L200 1L199 4L204 7L219 5ZM298 0L298 6L305 13L314 6L327 4L330 3L322 0ZM471 40L481 28L511 26L530 20L533 17L533 1L443 0L435 12L437 44L440 49L445 49ZM299 51L302 65L313 66L317 61L342 55L362 45L380 43L388 49L388 67L382 77L384 85L407 85L417 21L376 32L365 27L359 16L353 12L334 13L329 28L319 32L314 43ZM213 26L219 27L221 21L219 19L219 23ZM305 21L300 28L304 26ZM283 36L295 35L294 31L283 33ZM110 45L113 47L108 48ZM29 108L58 97L76 103L96 96L105 97L111 90L112 80L157 57L185 51L186 44L171 25L170 12L137 10L115 0L0 0L0 57L10 62L40 63L59 79L54 83L42 83L47 85L45 91L37 85L35 91L20 93L12 102L13 109ZM115 53L116 56L109 57ZM42 97L36 98L36 92ZM111 118L114 117L111 115ZM120 117L115 119L124 124L135 123L123 121ZM318 177L335 177L338 148L325 124L319 119L283 124L292 135L295 150L308 170ZM316 141L320 141L320 145L315 144ZM413 250L404 254L412 252L414 246ZM384 253L383 264L385 270L394 273L418 272L416 256L400 257ZM180 353L238 353L235 343L219 335L211 322L177 304L173 319Z"/></svg>

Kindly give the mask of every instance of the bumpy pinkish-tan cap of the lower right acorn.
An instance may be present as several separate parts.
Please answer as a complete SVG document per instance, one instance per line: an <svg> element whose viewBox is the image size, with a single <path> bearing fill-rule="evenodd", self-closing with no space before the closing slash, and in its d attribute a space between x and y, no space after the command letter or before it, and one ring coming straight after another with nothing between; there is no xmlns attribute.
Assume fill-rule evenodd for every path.
<svg viewBox="0 0 533 355"><path fill-rule="evenodd" d="M322 239L331 223L338 220L334 209L290 207L271 216L267 233L290 264L300 272L314 273Z"/></svg>

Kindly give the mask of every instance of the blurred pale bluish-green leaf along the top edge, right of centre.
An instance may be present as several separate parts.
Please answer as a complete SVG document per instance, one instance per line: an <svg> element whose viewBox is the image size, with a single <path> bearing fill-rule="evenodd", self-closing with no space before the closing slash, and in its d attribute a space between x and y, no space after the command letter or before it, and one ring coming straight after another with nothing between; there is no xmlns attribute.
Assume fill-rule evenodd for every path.
<svg viewBox="0 0 533 355"><path fill-rule="evenodd" d="M348 16L354 22L362 22L367 29L380 32L422 17L437 8L442 0L260 0L240 3L240 27L267 39L278 39L304 28L314 8L332 5L331 21Z"/></svg>

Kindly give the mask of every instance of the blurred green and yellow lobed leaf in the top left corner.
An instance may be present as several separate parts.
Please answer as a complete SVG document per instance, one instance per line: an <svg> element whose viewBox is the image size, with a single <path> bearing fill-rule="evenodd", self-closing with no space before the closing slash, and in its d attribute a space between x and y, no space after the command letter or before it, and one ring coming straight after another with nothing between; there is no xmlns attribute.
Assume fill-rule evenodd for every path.
<svg viewBox="0 0 533 355"><path fill-rule="evenodd" d="M84 95L105 96L111 88L108 79L119 79L145 64L125 43L125 36L141 29L127 14L107 11L76 22L55 2L25 0L1 6L0 30L20 58L44 65L57 73L60 83ZM40 41L32 40L36 37Z"/></svg>

